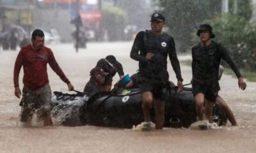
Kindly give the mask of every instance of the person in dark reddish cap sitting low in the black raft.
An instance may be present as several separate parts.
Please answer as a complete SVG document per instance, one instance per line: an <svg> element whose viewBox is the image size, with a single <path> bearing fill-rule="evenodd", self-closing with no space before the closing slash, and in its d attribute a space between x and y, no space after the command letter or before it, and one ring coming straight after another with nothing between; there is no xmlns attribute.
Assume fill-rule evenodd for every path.
<svg viewBox="0 0 256 153"><path fill-rule="evenodd" d="M92 96L93 94L103 91L102 84L105 82L106 73L102 68L95 67L90 71L90 80L84 87L84 93Z"/></svg>

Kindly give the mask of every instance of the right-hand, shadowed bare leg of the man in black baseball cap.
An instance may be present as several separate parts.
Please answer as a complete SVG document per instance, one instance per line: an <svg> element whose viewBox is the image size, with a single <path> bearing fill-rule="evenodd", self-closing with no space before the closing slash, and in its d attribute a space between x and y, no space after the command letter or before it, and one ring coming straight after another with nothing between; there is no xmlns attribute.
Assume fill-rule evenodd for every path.
<svg viewBox="0 0 256 153"><path fill-rule="evenodd" d="M155 106L155 113L156 113L156 129L163 129L164 101L161 99L156 99L154 106Z"/></svg>

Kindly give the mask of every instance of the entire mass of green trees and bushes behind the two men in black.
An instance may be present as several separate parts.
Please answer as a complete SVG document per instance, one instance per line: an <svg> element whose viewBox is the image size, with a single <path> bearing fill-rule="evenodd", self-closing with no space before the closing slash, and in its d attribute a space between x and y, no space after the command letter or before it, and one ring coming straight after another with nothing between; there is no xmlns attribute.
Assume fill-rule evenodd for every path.
<svg viewBox="0 0 256 153"><path fill-rule="evenodd" d="M180 43L179 51L190 50L198 41L198 25L209 23L239 68L256 71L256 26L252 18L252 0L229 0L229 13L221 13L221 0L155 0L166 17L168 29Z"/></svg>

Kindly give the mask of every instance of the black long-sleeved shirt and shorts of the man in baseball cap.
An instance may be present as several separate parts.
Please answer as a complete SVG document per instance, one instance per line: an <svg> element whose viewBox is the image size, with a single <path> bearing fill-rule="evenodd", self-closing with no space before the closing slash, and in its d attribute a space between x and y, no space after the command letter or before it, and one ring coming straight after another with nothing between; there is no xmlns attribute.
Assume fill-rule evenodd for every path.
<svg viewBox="0 0 256 153"><path fill-rule="evenodd" d="M148 52L154 57L147 61ZM167 56L169 55L176 78L182 81L180 64L172 36L162 33L155 36L152 31L140 31L134 40L131 58L139 61L139 74L143 80L141 91L152 91L156 98L162 98L161 92L168 85Z"/></svg>

